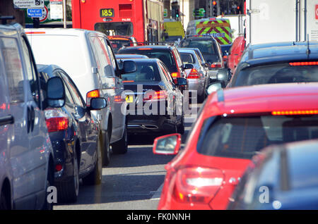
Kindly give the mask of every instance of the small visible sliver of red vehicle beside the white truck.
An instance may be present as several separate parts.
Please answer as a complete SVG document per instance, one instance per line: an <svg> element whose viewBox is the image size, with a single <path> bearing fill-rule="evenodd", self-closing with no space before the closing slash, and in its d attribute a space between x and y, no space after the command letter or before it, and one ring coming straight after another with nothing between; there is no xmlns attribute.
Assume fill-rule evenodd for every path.
<svg viewBox="0 0 318 224"><path fill-rule="evenodd" d="M237 63L240 62L241 56L245 49L245 44L246 44L245 38L243 36L240 36L234 40L231 46L231 49L228 55L228 68L230 68L232 73L235 72Z"/></svg>

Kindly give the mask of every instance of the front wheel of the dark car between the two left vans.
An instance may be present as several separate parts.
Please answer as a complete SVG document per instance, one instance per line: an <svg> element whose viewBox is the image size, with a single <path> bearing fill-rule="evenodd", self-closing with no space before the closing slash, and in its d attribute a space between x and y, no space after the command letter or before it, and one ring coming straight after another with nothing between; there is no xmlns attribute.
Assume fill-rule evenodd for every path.
<svg viewBox="0 0 318 224"><path fill-rule="evenodd" d="M98 137L97 161L93 171L83 178L84 185L100 185L102 182L102 137Z"/></svg>

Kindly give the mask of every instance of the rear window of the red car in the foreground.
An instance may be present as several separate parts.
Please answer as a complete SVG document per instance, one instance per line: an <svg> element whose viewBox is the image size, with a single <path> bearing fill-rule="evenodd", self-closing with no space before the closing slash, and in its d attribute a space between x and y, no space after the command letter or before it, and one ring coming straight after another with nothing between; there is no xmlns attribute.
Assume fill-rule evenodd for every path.
<svg viewBox="0 0 318 224"><path fill-rule="evenodd" d="M318 116L212 117L202 126L197 151L250 159L270 144L318 138Z"/></svg>

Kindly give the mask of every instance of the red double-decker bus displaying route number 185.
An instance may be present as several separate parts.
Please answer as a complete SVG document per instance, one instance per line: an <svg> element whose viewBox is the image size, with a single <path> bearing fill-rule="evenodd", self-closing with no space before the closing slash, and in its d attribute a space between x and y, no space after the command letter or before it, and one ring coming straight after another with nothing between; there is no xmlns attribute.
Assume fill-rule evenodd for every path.
<svg viewBox="0 0 318 224"><path fill-rule="evenodd" d="M160 0L72 0L72 18L73 28L132 36L137 42L163 42Z"/></svg>

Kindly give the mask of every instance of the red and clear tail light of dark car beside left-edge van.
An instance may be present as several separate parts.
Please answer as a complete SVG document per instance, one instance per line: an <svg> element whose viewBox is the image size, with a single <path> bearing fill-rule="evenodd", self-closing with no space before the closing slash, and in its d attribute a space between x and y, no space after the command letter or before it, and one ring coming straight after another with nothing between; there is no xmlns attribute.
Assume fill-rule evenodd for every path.
<svg viewBox="0 0 318 224"><path fill-rule="evenodd" d="M49 109L45 111L48 132L58 132L69 127L69 117L61 111Z"/></svg>

